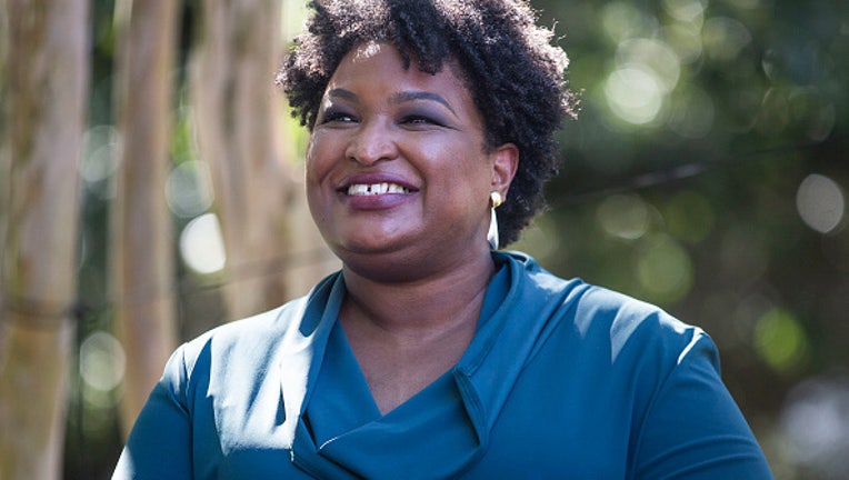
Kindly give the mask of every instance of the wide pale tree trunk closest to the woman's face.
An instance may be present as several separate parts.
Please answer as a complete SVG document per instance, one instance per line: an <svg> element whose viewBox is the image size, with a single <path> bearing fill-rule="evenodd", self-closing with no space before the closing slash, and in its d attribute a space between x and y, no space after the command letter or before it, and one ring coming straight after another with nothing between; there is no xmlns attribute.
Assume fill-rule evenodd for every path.
<svg viewBox="0 0 849 480"><path fill-rule="evenodd" d="M209 162L227 250L229 319L282 302L293 194L280 148L279 1L202 1L190 92L201 158Z"/></svg>

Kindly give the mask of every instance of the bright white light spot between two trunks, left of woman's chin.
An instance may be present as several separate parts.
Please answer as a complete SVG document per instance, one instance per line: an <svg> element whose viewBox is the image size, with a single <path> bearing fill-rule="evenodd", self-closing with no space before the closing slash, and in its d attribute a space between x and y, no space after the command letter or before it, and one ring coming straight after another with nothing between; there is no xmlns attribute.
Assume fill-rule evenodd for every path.
<svg viewBox="0 0 849 480"><path fill-rule="evenodd" d="M197 217L183 228L180 256L190 269L201 274L216 273L224 268L224 241L214 213Z"/></svg>

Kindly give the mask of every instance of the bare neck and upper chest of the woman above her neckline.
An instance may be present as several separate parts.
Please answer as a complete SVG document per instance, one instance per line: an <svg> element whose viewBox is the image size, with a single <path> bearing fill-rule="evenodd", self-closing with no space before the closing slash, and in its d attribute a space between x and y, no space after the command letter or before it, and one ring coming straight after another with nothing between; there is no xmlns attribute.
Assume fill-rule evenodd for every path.
<svg viewBox="0 0 849 480"><path fill-rule="evenodd" d="M377 281L343 270L340 321L381 413L460 360L475 336L495 264L489 252L445 274Z"/></svg>

